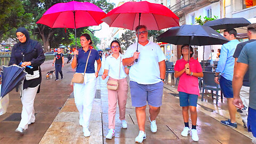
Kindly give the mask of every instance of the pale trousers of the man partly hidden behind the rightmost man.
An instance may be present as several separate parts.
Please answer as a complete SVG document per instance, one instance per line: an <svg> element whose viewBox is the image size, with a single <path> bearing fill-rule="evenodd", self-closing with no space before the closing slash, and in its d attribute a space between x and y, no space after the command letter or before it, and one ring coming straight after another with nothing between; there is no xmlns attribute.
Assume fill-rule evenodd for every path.
<svg viewBox="0 0 256 144"><path fill-rule="evenodd" d="M248 117L248 109L249 109L249 93L250 93L250 87L249 86L242 86L240 90L240 98L243 101L243 105L246 108L246 113L241 114L241 118L244 120L244 123L247 126L247 117Z"/></svg>

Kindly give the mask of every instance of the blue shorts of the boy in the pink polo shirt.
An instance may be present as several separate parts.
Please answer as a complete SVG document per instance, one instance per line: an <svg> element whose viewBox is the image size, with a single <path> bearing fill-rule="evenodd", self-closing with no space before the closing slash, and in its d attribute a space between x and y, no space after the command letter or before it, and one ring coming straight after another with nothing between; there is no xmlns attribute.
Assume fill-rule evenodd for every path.
<svg viewBox="0 0 256 144"><path fill-rule="evenodd" d="M189 94L186 92L179 92L180 97L180 106L181 107L188 107L188 106L197 106L197 94Z"/></svg>

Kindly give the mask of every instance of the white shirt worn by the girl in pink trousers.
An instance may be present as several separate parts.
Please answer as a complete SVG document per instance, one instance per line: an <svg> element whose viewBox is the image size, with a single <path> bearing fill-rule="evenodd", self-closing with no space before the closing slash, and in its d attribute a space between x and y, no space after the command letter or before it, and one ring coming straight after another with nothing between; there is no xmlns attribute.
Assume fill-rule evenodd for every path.
<svg viewBox="0 0 256 144"><path fill-rule="evenodd" d="M117 59L114 58L112 54L106 58L105 69L109 70L108 75L110 77L118 79L120 58L122 57L122 60L123 60L123 56L124 56L123 54L119 53L119 57ZM121 60L120 78L119 79L126 77L122 60Z"/></svg>

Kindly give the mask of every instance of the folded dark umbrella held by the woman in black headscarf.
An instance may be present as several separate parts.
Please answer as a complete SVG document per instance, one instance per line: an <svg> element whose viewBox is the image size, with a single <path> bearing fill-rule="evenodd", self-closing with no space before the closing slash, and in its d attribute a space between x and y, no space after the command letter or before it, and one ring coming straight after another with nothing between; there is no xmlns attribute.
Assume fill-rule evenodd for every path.
<svg viewBox="0 0 256 144"><path fill-rule="evenodd" d="M7 93L12 91L16 86L21 84L25 75L27 74L24 71L24 68L19 66L3 66L2 73L2 86L1 86L1 95L4 97Z"/></svg>

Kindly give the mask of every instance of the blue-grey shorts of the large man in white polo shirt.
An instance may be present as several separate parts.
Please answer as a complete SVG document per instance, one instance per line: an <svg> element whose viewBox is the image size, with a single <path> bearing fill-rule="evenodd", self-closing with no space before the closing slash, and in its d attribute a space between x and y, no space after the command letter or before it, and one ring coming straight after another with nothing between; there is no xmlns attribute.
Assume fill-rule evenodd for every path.
<svg viewBox="0 0 256 144"><path fill-rule="evenodd" d="M147 105L153 107L162 106L164 83L138 84L130 81L131 98L133 107L143 107Z"/></svg>

